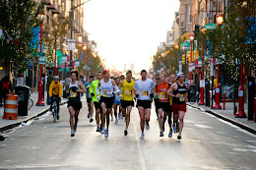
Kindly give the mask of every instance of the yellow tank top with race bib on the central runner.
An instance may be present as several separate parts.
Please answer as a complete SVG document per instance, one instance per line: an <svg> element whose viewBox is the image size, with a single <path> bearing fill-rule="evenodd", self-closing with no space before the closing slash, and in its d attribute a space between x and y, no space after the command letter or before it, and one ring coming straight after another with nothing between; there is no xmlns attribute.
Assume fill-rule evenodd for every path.
<svg viewBox="0 0 256 170"><path fill-rule="evenodd" d="M127 82L124 80L123 87L122 87L122 100L132 101L133 100L133 93L134 93L134 81Z"/></svg>

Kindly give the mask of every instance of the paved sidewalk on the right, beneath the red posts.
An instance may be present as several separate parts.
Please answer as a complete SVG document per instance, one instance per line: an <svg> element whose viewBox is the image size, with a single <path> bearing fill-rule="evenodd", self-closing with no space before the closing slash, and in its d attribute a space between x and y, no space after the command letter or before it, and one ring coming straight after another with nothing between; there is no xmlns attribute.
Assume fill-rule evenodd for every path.
<svg viewBox="0 0 256 170"><path fill-rule="evenodd" d="M254 135L256 135L256 122L254 121L248 121L247 118L235 118L233 114L233 102L226 102L225 103L225 110L222 109L211 109L211 107L207 107L205 105L198 105L197 103L189 104L187 105L198 108L202 111L208 112L210 114L213 114L220 119L223 119L224 121L227 121L243 130L246 130ZM238 107L238 103L235 103L236 107ZM221 106L223 108L224 104L221 103ZM238 109L238 108L237 108ZM244 104L244 112L247 115L247 103Z"/></svg>

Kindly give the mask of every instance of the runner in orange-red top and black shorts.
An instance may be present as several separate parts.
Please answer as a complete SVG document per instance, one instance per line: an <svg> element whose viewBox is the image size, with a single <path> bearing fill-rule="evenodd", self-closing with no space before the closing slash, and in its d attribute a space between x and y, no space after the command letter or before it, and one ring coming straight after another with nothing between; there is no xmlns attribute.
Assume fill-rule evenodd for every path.
<svg viewBox="0 0 256 170"><path fill-rule="evenodd" d="M164 121L162 120L163 117L166 119L166 116L168 116L168 120L171 121L171 114L170 114L170 104L169 104L169 97L167 96L166 92L169 89L169 84L165 83L166 75L161 73L160 74L160 84L156 85L155 95L159 95L159 102L158 102L158 112L160 115L159 124L160 124L160 137L163 137L163 131L164 131ZM164 115L162 117L162 113L164 112ZM172 137L172 129L171 129L171 122L169 124L169 138Z"/></svg>

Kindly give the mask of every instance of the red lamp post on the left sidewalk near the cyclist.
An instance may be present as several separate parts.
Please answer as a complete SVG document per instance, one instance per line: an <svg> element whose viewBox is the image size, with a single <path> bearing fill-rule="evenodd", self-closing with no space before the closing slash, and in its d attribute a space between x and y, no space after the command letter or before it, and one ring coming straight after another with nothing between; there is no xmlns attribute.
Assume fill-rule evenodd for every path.
<svg viewBox="0 0 256 170"><path fill-rule="evenodd" d="M43 23L43 16L44 14L43 13L40 13L38 15L38 18L39 18L39 21L40 21L40 40L42 38L42 23ZM41 41L40 41L40 53L42 52L42 44L41 44ZM39 78L39 82L38 82L38 100L36 102L36 106L44 106L44 102L42 100L42 96L43 96L43 84L42 84L42 81L41 81L41 74L42 74L42 68L41 68L41 64L39 64L39 75L40 75L40 78Z"/></svg>

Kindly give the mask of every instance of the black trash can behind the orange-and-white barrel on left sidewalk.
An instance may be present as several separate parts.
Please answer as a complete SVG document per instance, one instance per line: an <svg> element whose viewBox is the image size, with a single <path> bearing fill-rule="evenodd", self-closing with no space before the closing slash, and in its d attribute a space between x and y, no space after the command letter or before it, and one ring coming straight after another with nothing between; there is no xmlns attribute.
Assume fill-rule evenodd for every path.
<svg viewBox="0 0 256 170"><path fill-rule="evenodd" d="M30 86L15 86L14 89L18 95L18 116L28 116Z"/></svg>

